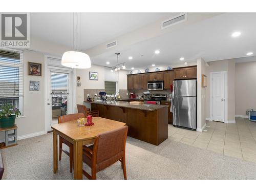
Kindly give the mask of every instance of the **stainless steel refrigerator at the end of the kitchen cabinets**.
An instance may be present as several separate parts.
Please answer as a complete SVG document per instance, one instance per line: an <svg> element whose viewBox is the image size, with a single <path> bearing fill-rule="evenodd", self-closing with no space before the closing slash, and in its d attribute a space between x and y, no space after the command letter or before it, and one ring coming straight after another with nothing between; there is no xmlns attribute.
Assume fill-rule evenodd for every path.
<svg viewBox="0 0 256 192"><path fill-rule="evenodd" d="M173 125L197 129L197 80L173 81Z"/></svg>

